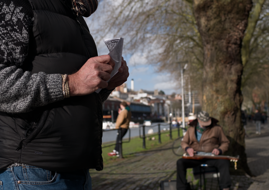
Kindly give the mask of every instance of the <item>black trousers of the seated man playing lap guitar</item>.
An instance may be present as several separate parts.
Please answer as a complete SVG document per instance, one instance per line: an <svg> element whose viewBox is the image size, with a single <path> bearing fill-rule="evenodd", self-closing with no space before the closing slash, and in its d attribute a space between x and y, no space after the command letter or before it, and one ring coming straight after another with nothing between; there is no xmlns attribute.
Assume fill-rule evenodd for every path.
<svg viewBox="0 0 269 190"><path fill-rule="evenodd" d="M209 166L217 167L220 172L220 187L229 188L232 184L229 166L229 160L222 159L202 159L202 160L191 160L191 159L179 159L176 163L177 166L177 176L176 176L176 189L186 190L187 180L186 180L186 169L200 166L201 164L207 164Z"/></svg>

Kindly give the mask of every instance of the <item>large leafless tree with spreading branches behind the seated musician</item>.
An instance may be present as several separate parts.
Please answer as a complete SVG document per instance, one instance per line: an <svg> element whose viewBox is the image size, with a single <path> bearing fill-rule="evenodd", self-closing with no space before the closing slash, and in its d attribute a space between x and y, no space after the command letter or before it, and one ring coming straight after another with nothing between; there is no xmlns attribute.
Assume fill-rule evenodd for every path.
<svg viewBox="0 0 269 190"><path fill-rule="evenodd" d="M229 154L239 154L239 167L248 173L241 91L250 98L255 87L269 81L268 0L253 3L104 0L101 4L109 17L94 31L100 39L108 33L125 36L129 52L144 53L149 64L174 78L180 77L178 62L188 60L186 72L192 87L201 92L203 109L220 120L231 140Z"/></svg>

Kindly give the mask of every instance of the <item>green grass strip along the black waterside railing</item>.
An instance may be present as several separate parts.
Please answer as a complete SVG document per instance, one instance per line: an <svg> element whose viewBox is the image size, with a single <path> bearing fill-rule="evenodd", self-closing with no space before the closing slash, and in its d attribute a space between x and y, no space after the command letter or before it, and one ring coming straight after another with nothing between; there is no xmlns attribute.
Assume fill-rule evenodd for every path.
<svg viewBox="0 0 269 190"><path fill-rule="evenodd" d="M173 129L172 130L172 140L170 140L169 138L170 135L170 131L162 131L161 132L161 144L158 143L158 134L154 133L151 135L146 135L146 137L150 137L151 139L154 137L154 140L150 140L150 138L146 138L146 149L142 148L143 145L143 139L139 138L139 137L134 137L131 138L130 142L126 142L122 144L122 153L123 153L123 157L124 158L128 158L128 157L132 157L134 155L134 153L137 152L143 152L143 151L147 151L150 149L154 149L154 148L158 148L160 146L163 146L169 142L172 142L173 140L175 140L176 138L178 138L178 129ZM182 129L180 129L180 137L182 137ZM123 142L126 140L123 140ZM111 144L111 143L110 143ZM107 146L110 145L108 143L104 143L102 144L102 146ZM112 144L115 144L112 143ZM110 162L113 162L117 159L117 157L111 157L108 156L107 153L108 152L112 152L112 150L114 149L115 145L107 147L107 148L102 148L102 157L104 159L104 164L108 164Z"/></svg>

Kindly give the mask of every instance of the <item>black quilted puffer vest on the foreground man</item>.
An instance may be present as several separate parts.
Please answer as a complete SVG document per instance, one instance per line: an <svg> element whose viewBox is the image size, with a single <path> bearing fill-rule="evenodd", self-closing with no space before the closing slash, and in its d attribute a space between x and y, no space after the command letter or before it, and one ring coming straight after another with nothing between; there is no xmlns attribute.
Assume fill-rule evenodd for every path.
<svg viewBox="0 0 269 190"><path fill-rule="evenodd" d="M72 74L97 56L82 17L63 0L29 0L34 13L23 70ZM71 1L70 1L71 2ZM0 170L12 163L52 171L103 169L102 100L73 96L28 113L0 113Z"/></svg>

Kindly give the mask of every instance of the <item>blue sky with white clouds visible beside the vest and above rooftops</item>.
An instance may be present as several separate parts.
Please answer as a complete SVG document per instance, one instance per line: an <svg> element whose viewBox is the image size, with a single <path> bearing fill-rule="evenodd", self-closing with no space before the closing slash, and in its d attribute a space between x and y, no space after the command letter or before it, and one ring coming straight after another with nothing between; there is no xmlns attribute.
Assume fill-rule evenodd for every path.
<svg viewBox="0 0 269 190"><path fill-rule="evenodd" d="M94 17L96 15L101 15ZM94 19L95 18L95 19ZM100 23L103 23L106 18L105 13L102 11L101 5L99 4L98 9L95 11L94 15L89 18L85 18L86 23L90 29L90 31L94 31L95 28L98 28ZM113 38L113 33L105 36L104 39ZM118 36L128 38L127 36ZM93 35L95 40L99 40L97 36ZM103 40L104 40L103 39ZM125 41L126 43L126 41ZM124 46L123 46L124 48ZM109 51L104 42L100 42L97 44L98 55L108 54ZM177 88L177 83L173 81L170 77L169 73L158 73L156 66L150 65L147 63L146 55L142 53L134 52L132 55L130 52L126 52L123 50L123 58L126 60L127 65L129 67L129 78L127 80L128 88L131 87L131 80L134 79L134 90L137 91L139 89L150 90L154 89L163 90L165 94L172 94L172 92L179 93L180 90Z"/></svg>

